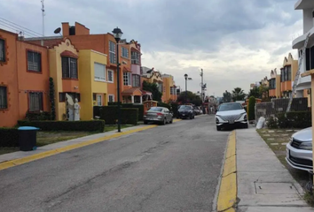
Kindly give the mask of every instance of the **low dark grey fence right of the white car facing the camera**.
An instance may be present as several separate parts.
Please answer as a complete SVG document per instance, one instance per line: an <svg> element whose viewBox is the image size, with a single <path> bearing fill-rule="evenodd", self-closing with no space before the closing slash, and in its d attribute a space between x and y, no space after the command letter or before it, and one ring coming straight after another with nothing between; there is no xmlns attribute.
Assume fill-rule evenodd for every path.
<svg viewBox="0 0 314 212"><path fill-rule="evenodd" d="M260 117L274 117L278 113L286 112L289 99L272 99L271 102L260 102L255 105L255 120ZM308 108L308 98L294 98L291 111L305 111Z"/></svg>

